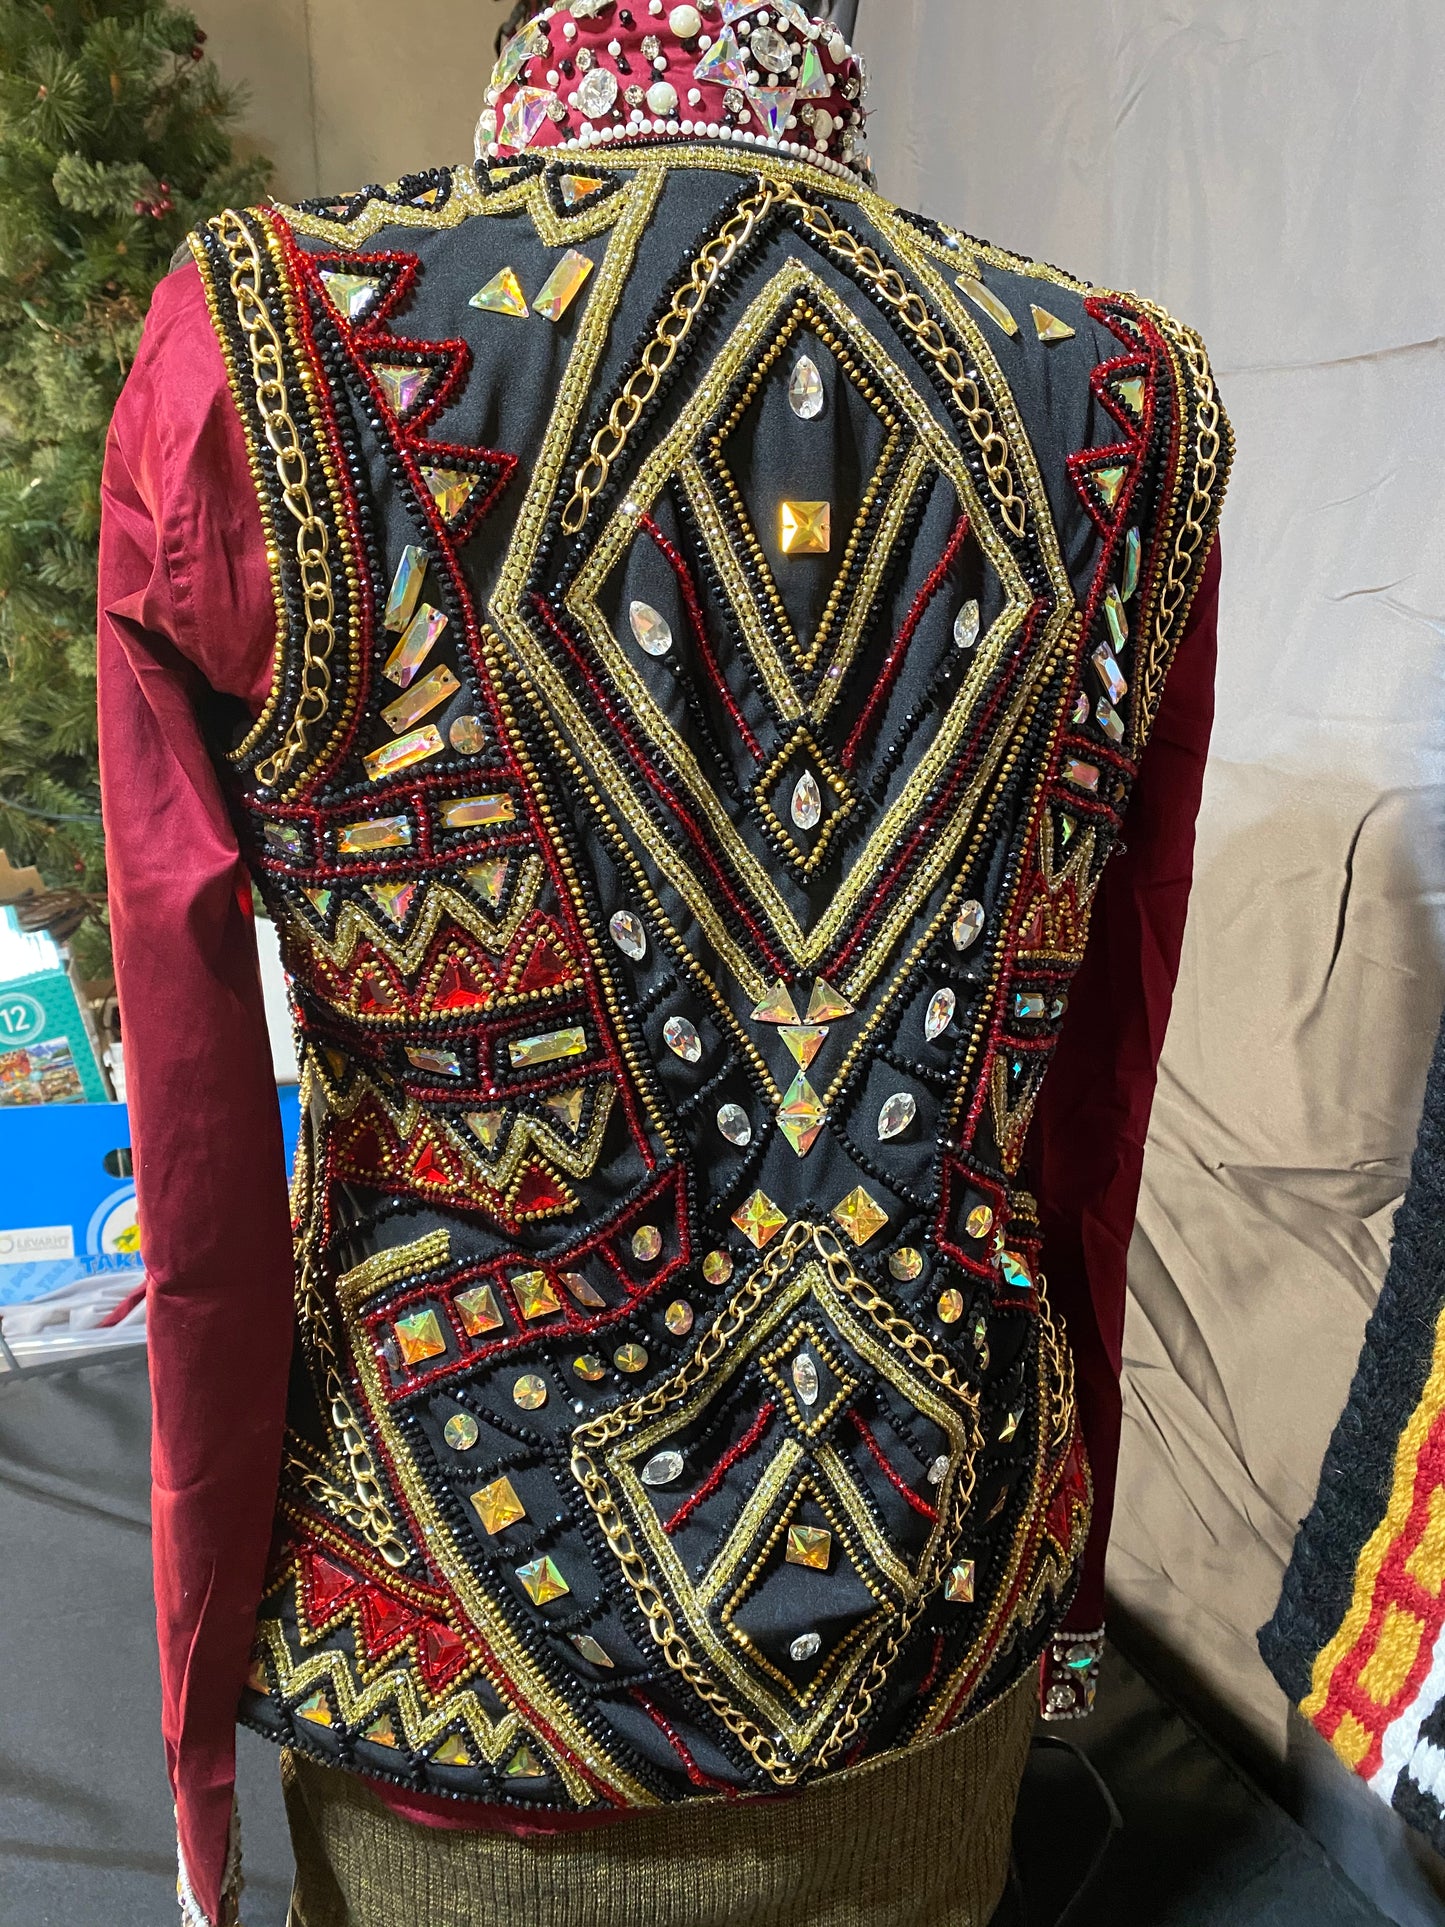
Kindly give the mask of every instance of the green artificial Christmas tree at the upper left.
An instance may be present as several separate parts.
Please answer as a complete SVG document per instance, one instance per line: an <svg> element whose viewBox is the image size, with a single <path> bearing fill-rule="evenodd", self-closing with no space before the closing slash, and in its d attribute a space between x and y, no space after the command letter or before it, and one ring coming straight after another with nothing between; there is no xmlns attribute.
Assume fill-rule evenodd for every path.
<svg viewBox="0 0 1445 1927"><path fill-rule="evenodd" d="M40 867L89 979L100 457L175 247L270 177L233 152L237 106L191 13L0 0L0 842Z"/></svg>

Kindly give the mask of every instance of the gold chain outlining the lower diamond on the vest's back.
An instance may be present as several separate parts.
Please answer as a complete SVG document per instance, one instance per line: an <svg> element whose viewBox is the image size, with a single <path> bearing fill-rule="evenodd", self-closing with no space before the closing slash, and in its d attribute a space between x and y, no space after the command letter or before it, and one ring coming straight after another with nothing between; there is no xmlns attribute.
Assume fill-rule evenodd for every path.
<svg viewBox="0 0 1445 1927"><path fill-rule="evenodd" d="M647 1571L647 1563L638 1551L632 1532L622 1518L617 1501L613 1499L611 1488L603 1474L597 1470L593 1451L599 1451L618 1439L624 1432L632 1430L640 1420L659 1418L670 1403L690 1391L694 1386L701 1384L717 1364L717 1360L728 1351L738 1332L748 1324L751 1314L761 1307L763 1299L769 1295L771 1287L792 1268L798 1254L813 1245L817 1256L828 1270L832 1283L846 1293L861 1310L869 1312L873 1320L886 1332L894 1345L906 1353L906 1357L929 1378L934 1380L944 1391L948 1391L959 1405L969 1412L973 1438L969 1441L969 1457L961 1470L956 1486L956 1518L961 1518L973 1503L973 1491L977 1484L977 1455L983 1445L983 1434L979 1428L979 1399L967 1389L954 1372L954 1366L942 1353L934 1351L929 1339L917 1332L906 1318L902 1318L894 1307L879 1291L869 1285L865 1278L859 1278L848 1262L848 1254L821 1226L794 1224L778 1245L769 1253L769 1256L757 1266L757 1270L748 1278L738 1293L734 1293L722 1316L703 1337L701 1345L694 1357L682 1366L682 1370L669 1380L665 1386L657 1386L653 1391L645 1393L634 1405L620 1407L618 1411L605 1412L601 1418L578 1428L572 1436L572 1476L588 1497L597 1524L603 1530L603 1538L617 1559L622 1576L632 1588L638 1605L647 1621L647 1630L657 1642L663 1657L680 1673L682 1678L692 1686L697 1698L717 1713L722 1725L732 1732L753 1761L767 1773L775 1786L796 1786L803 1777L803 1767L782 1757L778 1752L778 1742L773 1734L763 1732L763 1729L740 1713L726 1698L713 1686L705 1669L692 1657L688 1642L678 1632L676 1619L667 1599L661 1596L653 1578ZM919 1613L929 1603L929 1590L919 1588L919 1596L902 1615L892 1636L884 1648L875 1653L869 1667L867 1678L859 1686L848 1711L844 1711L834 1725L828 1738L823 1742L817 1757L815 1771L827 1765L842 1748L850 1744L857 1729L867 1719L877 1694L886 1686L892 1673L894 1659L900 1648L907 1640Z"/></svg>

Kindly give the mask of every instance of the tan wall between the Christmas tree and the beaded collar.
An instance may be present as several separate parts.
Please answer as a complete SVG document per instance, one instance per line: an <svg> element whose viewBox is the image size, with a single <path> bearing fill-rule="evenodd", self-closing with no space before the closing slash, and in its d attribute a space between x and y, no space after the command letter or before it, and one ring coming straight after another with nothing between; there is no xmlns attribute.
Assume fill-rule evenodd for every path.
<svg viewBox="0 0 1445 1927"><path fill-rule="evenodd" d="M470 160L503 0L198 0L277 198Z"/></svg>

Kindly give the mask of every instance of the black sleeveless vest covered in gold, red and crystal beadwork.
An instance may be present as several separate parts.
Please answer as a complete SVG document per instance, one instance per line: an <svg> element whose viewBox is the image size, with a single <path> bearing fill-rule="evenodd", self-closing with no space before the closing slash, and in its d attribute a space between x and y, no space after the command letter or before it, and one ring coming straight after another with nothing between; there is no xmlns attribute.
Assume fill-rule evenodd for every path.
<svg viewBox="0 0 1445 1927"><path fill-rule="evenodd" d="M1025 1135L1229 455L1141 301L807 162L572 160L193 243L304 1064L243 1717L551 1811L925 1742L1060 1623Z"/></svg>

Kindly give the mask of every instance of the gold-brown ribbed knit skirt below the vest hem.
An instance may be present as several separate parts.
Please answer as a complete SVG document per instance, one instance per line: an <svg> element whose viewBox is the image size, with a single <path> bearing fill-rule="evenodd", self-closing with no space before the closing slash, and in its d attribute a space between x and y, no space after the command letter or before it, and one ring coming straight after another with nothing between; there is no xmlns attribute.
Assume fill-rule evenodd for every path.
<svg viewBox="0 0 1445 1927"><path fill-rule="evenodd" d="M784 1800L688 1802L518 1840L399 1819L285 1754L289 1927L986 1927L1037 1694Z"/></svg>

